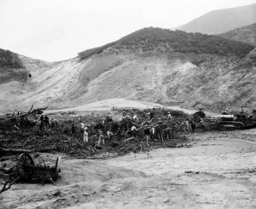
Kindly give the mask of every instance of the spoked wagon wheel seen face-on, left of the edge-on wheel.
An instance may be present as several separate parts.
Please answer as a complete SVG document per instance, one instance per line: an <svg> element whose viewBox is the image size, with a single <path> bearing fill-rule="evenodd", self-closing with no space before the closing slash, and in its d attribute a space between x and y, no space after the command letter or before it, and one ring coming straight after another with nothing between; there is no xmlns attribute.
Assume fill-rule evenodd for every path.
<svg viewBox="0 0 256 209"><path fill-rule="evenodd" d="M20 154L16 162L16 171L20 178L29 180L33 177L33 172L29 171L26 165L34 166L33 158L27 153Z"/></svg>

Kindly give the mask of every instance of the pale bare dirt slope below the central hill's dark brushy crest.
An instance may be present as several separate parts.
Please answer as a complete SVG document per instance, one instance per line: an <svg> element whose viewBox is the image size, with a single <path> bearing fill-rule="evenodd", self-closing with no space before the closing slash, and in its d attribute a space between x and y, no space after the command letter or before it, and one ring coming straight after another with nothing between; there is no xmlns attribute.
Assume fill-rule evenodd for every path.
<svg viewBox="0 0 256 209"><path fill-rule="evenodd" d="M86 60L48 63L20 57L32 77L0 84L1 109L84 105L111 98L153 103L184 102L223 77L238 58L193 53L116 53L106 50ZM211 86L215 88L214 86ZM191 97L192 95L192 97Z"/></svg>

